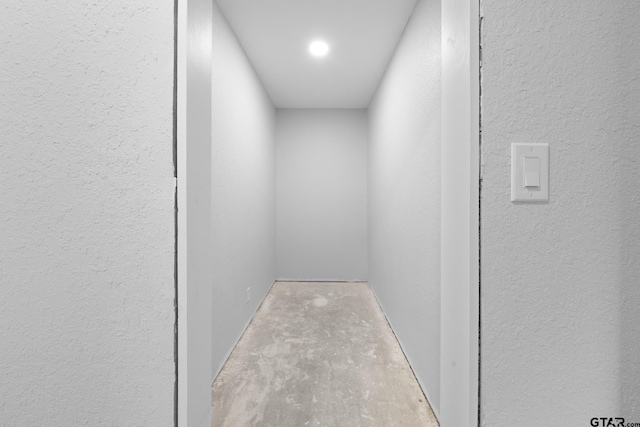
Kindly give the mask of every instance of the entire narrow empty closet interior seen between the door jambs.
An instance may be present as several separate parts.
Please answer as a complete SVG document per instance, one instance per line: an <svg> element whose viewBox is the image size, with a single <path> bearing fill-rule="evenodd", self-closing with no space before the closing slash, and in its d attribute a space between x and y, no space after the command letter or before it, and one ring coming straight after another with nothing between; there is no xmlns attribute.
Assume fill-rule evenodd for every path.
<svg viewBox="0 0 640 427"><path fill-rule="evenodd" d="M214 1L212 426L438 425L440 28Z"/></svg>

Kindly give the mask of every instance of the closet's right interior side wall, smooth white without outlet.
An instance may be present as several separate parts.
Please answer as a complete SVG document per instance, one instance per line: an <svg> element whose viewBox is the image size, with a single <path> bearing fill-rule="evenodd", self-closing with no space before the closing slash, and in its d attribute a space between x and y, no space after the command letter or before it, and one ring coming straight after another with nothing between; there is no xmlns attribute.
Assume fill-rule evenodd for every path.
<svg viewBox="0 0 640 427"><path fill-rule="evenodd" d="M440 4L421 0L369 107L369 282L440 394Z"/></svg>

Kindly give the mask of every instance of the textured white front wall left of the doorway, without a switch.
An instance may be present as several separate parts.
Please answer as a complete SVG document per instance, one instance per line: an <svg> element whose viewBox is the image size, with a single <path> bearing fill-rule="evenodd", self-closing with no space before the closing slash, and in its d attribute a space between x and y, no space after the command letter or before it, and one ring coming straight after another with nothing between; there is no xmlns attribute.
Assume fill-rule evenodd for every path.
<svg viewBox="0 0 640 427"><path fill-rule="evenodd" d="M0 7L0 425L173 423L173 4Z"/></svg>

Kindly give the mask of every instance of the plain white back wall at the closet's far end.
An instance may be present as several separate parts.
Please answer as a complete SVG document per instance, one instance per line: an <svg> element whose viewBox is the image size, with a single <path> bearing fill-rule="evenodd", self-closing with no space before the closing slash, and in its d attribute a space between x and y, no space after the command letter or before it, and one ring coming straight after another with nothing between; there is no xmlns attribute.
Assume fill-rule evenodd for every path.
<svg viewBox="0 0 640 427"><path fill-rule="evenodd" d="M278 278L367 279L365 110L278 110Z"/></svg>

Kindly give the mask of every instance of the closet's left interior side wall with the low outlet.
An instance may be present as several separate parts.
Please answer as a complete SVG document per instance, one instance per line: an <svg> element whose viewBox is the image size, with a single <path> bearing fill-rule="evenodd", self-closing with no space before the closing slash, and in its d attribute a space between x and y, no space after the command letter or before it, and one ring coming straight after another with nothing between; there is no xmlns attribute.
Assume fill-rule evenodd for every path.
<svg viewBox="0 0 640 427"><path fill-rule="evenodd" d="M275 110L215 2L211 112L215 377L276 278Z"/></svg>

